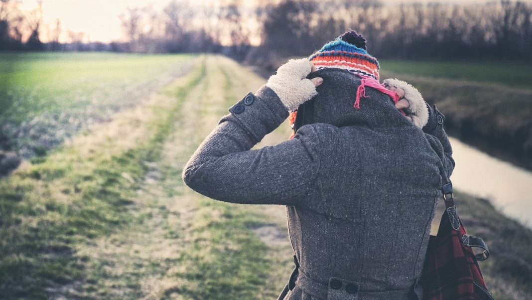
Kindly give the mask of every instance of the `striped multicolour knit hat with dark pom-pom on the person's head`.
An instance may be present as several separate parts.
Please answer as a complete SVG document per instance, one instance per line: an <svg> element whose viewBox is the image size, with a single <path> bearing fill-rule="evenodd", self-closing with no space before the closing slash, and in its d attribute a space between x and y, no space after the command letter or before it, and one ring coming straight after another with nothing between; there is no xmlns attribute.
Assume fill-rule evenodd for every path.
<svg viewBox="0 0 532 300"><path fill-rule="evenodd" d="M379 62L366 51L366 40L354 30L345 32L309 57L318 69L339 68L379 80Z"/></svg>

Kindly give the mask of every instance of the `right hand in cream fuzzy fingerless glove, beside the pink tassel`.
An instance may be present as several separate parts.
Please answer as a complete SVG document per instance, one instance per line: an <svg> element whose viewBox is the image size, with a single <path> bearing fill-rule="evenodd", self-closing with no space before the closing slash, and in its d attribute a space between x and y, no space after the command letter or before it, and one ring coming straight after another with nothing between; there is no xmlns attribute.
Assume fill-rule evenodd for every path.
<svg viewBox="0 0 532 300"><path fill-rule="evenodd" d="M407 119L419 128L423 128L427 124L429 111L417 88L398 79L386 79L384 86L399 95L399 101L395 103L395 107L398 110L403 110Z"/></svg>

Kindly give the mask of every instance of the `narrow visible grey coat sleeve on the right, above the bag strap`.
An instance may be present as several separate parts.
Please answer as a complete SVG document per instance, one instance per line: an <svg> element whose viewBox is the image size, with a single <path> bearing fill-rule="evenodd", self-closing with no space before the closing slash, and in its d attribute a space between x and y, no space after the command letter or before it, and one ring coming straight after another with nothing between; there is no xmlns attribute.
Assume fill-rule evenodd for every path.
<svg viewBox="0 0 532 300"><path fill-rule="evenodd" d="M427 107L429 111L429 120L425 127L423 127L423 132L435 137L441 144L445 171L447 172L447 176L451 176L454 170L454 159L451 143L443 129L445 116L436 109L436 105L434 105L433 108L427 104Z"/></svg>

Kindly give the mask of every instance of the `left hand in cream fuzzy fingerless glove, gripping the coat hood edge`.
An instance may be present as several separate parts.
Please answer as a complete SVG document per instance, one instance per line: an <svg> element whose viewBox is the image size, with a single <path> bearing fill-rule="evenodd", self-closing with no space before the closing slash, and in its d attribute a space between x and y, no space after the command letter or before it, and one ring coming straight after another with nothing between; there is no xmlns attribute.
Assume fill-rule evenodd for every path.
<svg viewBox="0 0 532 300"><path fill-rule="evenodd" d="M275 91L287 110L295 110L318 94L316 87L322 84L323 79L306 79L315 71L316 67L307 59L289 60L268 79L266 86Z"/></svg>

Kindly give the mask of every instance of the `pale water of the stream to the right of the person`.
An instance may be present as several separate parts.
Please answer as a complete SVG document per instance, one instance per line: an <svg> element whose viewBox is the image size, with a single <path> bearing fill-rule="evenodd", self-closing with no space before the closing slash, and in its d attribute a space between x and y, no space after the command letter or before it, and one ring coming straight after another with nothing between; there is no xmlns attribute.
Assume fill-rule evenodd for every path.
<svg viewBox="0 0 532 300"><path fill-rule="evenodd" d="M456 189L489 199L512 219L532 228L532 172L450 138Z"/></svg>

